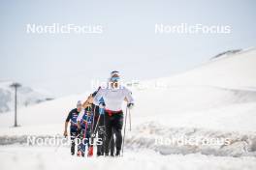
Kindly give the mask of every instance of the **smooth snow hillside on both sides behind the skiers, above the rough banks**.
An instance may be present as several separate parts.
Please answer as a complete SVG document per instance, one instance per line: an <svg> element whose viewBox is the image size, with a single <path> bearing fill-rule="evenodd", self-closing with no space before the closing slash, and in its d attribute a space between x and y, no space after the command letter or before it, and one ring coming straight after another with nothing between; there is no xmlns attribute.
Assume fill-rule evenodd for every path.
<svg viewBox="0 0 256 170"><path fill-rule="evenodd" d="M254 131L255 63L256 50L249 49L172 77L141 82L146 88L133 89L134 119L138 123L153 119L170 127ZM61 124L77 100L85 98L86 93L22 108L18 122L22 127ZM39 121L31 120L34 115ZM1 117L1 127L12 125L12 113Z"/></svg>

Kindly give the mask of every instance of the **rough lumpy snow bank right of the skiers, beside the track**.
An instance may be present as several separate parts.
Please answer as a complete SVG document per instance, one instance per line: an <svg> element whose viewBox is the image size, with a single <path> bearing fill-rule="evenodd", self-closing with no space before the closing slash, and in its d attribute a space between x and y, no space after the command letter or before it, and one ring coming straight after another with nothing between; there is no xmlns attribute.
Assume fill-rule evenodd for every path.
<svg viewBox="0 0 256 170"><path fill-rule="evenodd" d="M152 149L162 155L256 156L256 132L170 128L155 122L128 132L125 144L136 151Z"/></svg>

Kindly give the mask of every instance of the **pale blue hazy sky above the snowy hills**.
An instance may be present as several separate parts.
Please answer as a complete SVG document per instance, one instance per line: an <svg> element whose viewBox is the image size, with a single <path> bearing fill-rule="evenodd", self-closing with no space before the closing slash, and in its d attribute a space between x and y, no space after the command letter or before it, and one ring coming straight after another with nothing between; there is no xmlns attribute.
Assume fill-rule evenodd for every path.
<svg viewBox="0 0 256 170"><path fill-rule="evenodd" d="M228 49L256 44L256 2L0 1L0 80L55 96L90 90L118 70L125 79L170 76ZM26 24L101 24L100 36L27 34ZM156 35L155 24L230 25L231 34Z"/></svg>

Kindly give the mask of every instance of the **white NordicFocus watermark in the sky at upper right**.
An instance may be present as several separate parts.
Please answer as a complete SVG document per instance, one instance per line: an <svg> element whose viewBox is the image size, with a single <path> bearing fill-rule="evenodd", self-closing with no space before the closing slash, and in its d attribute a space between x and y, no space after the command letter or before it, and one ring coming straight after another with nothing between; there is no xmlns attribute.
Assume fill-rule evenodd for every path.
<svg viewBox="0 0 256 170"><path fill-rule="evenodd" d="M177 25L155 24L155 34L230 34L230 25L187 24Z"/></svg>

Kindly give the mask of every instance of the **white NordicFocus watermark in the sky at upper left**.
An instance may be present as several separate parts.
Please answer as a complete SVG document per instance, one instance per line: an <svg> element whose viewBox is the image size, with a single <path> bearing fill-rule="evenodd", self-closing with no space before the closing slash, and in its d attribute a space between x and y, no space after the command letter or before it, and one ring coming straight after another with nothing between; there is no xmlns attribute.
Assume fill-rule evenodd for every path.
<svg viewBox="0 0 256 170"><path fill-rule="evenodd" d="M27 34L103 34L103 31L104 27L101 24L26 24Z"/></svg>

